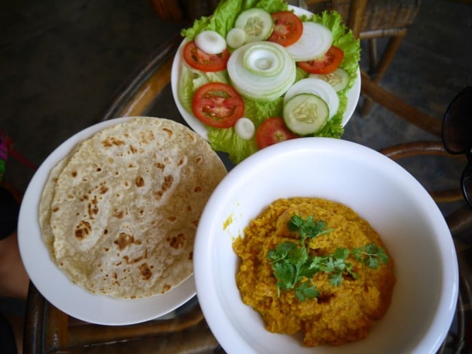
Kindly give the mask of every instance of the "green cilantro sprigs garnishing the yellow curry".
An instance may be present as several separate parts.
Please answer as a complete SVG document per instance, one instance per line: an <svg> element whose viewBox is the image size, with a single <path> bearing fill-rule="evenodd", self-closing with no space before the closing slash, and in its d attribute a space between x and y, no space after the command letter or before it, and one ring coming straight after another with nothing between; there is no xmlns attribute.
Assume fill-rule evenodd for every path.
<svg viewBox="0 0 472 354"><path fill-rule="evenodd" d="M358 279L352 264L347 262L351 253L356 260L373 269L389 262L385 250L373 243L352 250L340 247L330 255L313 255L310 252L311 240L330 233L333 229L326 229L327 226L323 220L313 220L313 216L306 219L298 215L291 216L287 227L290 231L298 231L299 242L283 242L267 252L267 259L272 264L272 271L277 280L279 295L280 290L294 290L300 301L319 296L313 282L313 276L319 272L329 274L332 286L340 286L343 283L343 275Z"/></svg>

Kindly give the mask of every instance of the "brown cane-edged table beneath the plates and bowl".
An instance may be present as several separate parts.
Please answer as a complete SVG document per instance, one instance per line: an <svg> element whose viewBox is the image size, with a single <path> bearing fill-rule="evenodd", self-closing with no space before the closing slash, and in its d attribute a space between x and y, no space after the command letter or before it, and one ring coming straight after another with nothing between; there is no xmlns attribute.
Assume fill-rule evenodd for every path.
<svg viewBox="0 0 472 354"><path fill-rule="evenodd" d="M104 112L104 120L118 116L157 116L170 118L186 125L174 104L170 84L168 84L170 63L180 41L180 36L170 38L166 45L159 48L148 62L136 71L114 97L109 109ZM355 139L351 140L355 141ZM357 142L362 144L362 140ZM220 157L228 170L233 168L233 164L225 155L220 154ZM464 203L459 203L459 205L460 213L445 214L449 223L460 224L457 220L462 220L463 216L467 216L466 219L470 217L470 208L462 207ZM460 214L458 219L456 219L457 214ZM460 301L447 340L439 351L441 353L461 353L464 350L464 338L467 336L465 331L468 330L471 336L472 277L469 260L472 260L472 238L469 224L465 225L466 227L459 226L457 232L454 232L454 241L460 260ZM131 334L124 336L120 344L105 344L106 338L114 338L114 333L108 335L103 327L99 335L92 336L91 333L96 332L95 327L68 318L59 310L54 309L32 285L27 306L25 348L31 349L31 352L61 351L64 345L80 346L85 344L86 340L96 344L93 349L90 349L91 353L111 349L125 350L125 348L146 351L146 348L157 346L163 351L173 352L191 349L200 352L222 351L202 317L196 298L178 309L175 318L131 326L132 332L129 332ZM140 339L130 340L136 338ZM185 338L185 341L181 340L182 338ZM101 343L101 340L104 342ZM108 342L112 341L108 340Z"/></svg>

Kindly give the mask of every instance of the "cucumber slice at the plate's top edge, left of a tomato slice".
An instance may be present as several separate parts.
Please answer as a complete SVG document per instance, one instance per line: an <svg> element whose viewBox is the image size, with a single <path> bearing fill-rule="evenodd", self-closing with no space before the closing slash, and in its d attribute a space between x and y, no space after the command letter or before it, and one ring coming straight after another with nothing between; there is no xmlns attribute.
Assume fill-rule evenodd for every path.
<svg viewBox="0 0 472 354"><path fill-rule="evenodd" d="M244 29L246 43L257 42L269 38L274 28L274 20L272 20L270 13L265 10L250 8L237 16L235 27Z"/></svg>

